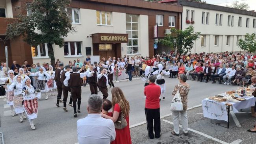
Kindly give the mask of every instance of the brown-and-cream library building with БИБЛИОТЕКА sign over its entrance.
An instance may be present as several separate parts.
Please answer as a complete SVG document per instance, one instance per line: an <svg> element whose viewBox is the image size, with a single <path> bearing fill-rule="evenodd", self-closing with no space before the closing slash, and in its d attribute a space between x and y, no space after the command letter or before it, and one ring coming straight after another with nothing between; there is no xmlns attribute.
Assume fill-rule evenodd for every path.
<svg viewBox="0 0 256 144"><path fill-rule="evenodd" d="M29 5L31 0L4 1L0 7L4 7L5 15L15 17L18 14L15 7ZM154 38L164 37L165 30L170 27L180 28L182 6L145 0L72 0L66 10L76 32L64 38L63 48L54 45L55 58L64 63L77 58L83 61L88 55L100 55L100 59L124 55L153 56ZM29 10L26 12L30 13ZM155 37L156 24L158 35ZM6 30L6 24L3 29ZM0 30L0 34L4 37L5 31ZM17 49L12 42L10 44L11 50ZM33 63L50 63L47 44L31 48L27 48L27 44L22 45L26 46L19 49L23 51L26 48L26 54L20 54L27 57L21 56L20 62L32 54Z"/></svg>

